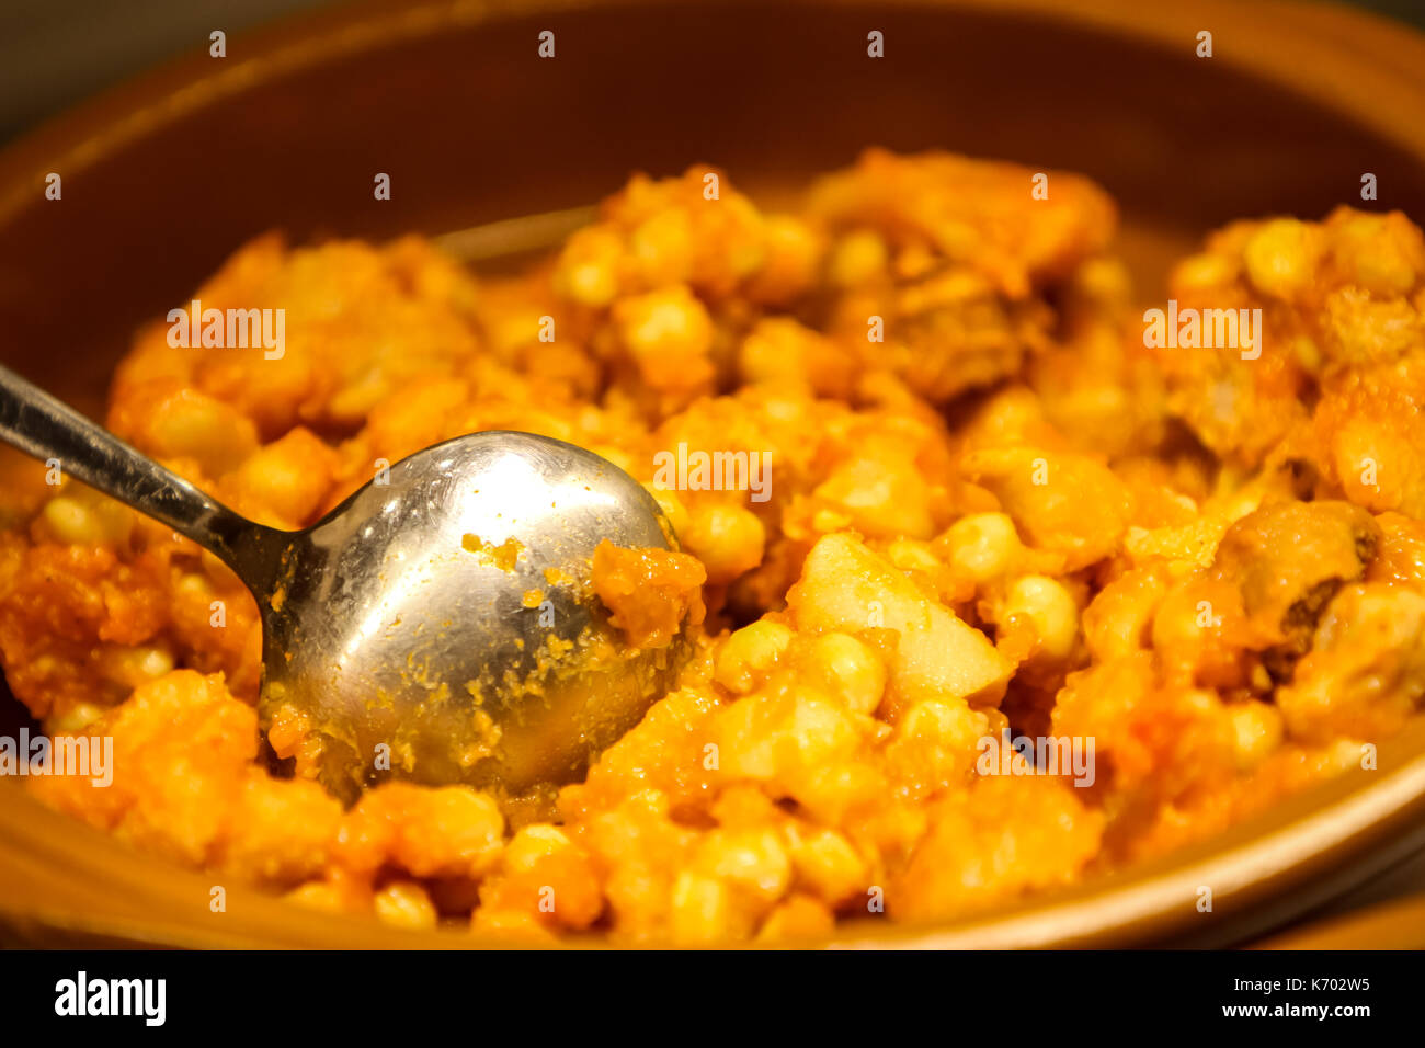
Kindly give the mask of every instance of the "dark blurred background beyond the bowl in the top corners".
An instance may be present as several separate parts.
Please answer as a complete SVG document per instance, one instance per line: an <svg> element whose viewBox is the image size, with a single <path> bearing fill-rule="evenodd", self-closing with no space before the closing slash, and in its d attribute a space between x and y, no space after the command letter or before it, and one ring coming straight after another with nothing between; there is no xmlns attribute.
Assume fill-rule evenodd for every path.
<svg viewBox="0 0 1425 1048"><path fill-rule="evenodd" d="M231 38L269 19L333 1L339 3L0 0L0 143L155 63L207 48L212 30ZM1425 29L1425 0L1355 0L1352 6Z"/></svg>

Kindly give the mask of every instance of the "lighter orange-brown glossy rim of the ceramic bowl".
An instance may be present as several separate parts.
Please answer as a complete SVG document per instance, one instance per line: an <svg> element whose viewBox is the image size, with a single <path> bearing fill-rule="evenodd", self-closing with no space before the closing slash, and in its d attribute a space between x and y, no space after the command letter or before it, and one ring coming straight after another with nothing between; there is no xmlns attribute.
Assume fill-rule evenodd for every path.
<svg viewBox="0 0 1425 1048"><path fill-rule="evenodd" d="M214 67L205 50L180 57L110 88L50 120L0 153L0 230L33 204L51 170L81 170L141 140L154 127L336 56L389 46L446 27L500 19L604 7L620 14L653 11L675 0L363 0L289 16L242 33L241 58ZM700 0L745 6L740 0ZM811 10L818 3L901 11L975 11L1054 20L1149 46L1190 47L1200 29L1214 33L1214 60L1355 120L1425 167L1425 36L1404 24L1334 4L1282 0L1244 6L1201 0L1157 9L1140 0L1099 0L1063 7L1060 0L781 0ZM1223 40L1260 40L1273 47L1221 48ZM1255 36L1253 36L1255 34ZM1392 98L1391 107L1379 104ZM63 165L63 167L61 167ZM1418 726L1416 726L1418 727ZM1425 847L1425 731L1414 727L1382 743L1379 771L1367 781L1347 773L1278 803L1226 834L1174 851L1141 867L1089 880L1073 890L1036 895L979 918L926 925L875 923L838 925L826 938L799 944L832 948L965 948L1129 945L1181 937L1198 918L1190 944L1240 941L1244 927L1265 931ZM194 905L185 920L171 907L162 917L135 910L155 881L207 898L212 875L140 854L108 834L38 804L14 784L0 783L16 803L0 804L0 925L67 933L80 941L184 947L436 947L519 945L486 934L446 930L415 933L375 918L335 917L294 907L255 888L228 891L237 928L207 918ZM57 841L78 844L78 853ZM50 864L47 865L46 861ZM63 865L54 865L61 863ZM155 865L158 867L155 870ZM87 893L83 908L53 900L58 880ZM1214 885L1207 920L1197 913L1197 887ZM1304 888L1304 885L1311 885ZM1295 901L1291 901L1291 895ZM171 893L165 895L171 898ZM195 895L194 898L200 898ZM1230 920L1228 920L1230 918ZM1235 933L1233 924L1235 923ZM218 925L218 927L215 927ZM244 927L245 925L245 927ZM560 948L606 948L604 941L561 941ZM730 942L730 948L752 944Z"/></svg>

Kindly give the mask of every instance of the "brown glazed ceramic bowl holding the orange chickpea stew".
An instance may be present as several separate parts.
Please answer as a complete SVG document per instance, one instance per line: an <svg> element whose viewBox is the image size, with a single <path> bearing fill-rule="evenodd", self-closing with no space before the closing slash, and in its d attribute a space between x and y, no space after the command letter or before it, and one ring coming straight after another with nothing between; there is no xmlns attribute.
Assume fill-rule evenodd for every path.
<svg viewBox="0 0 1425 1048"><path fill-rule="evenodd" d="M1425 38L1317 4L1160 7L430 0L325 11L232 38L224 60L195 41L191 60L0 155L0 359L95 411L134 328L255 234L440 232L694 161L754 195L872 144L1083 171L1123 207L1144 295L1211 227L1324 215L1358 202L1367 171L1377 207L1425 217ZM536 57L543 29L554 61ZM872 29L879 61L864 57ZM1210 60L1194 54L1200 30ZM44 200L50 171L61 202ZM372 200L376 171L392 175L389 202ZM1382 747L1378 770L1150 867L970 923L846 927L838 944L1240 942L1419 851L1422 816L1416 731ZM208 888L0 781L3 941L482 944L255 891L229 891L214 915Z"/></svg>

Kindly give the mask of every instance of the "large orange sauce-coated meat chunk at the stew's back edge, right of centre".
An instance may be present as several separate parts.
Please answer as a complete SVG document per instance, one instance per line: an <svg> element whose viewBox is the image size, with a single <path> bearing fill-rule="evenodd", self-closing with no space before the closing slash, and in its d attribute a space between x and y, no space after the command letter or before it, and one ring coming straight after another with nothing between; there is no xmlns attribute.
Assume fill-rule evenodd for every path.
<svg viewBox="0 0 1425 1048"><path fill-rule="evenodd" d="M865 366L931 401L992 385L1049 344L1037 292L1107 245L1113 202L1086 178L945 153L869 150L817 183L812 220L831 238L829 329ZM868 328L869 325L869 328Z"/></svg>

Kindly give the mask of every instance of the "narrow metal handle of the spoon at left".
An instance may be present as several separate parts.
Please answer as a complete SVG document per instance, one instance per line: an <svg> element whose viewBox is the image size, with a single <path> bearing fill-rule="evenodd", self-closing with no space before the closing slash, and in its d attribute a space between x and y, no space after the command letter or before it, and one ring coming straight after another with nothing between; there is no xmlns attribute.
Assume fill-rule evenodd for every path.
<svg viewBox="0 0 1425 1048"><path fill-rule="evenodd" d="M187 535L248 585L254 582L252 555L269 550L282 535L238 516L4 366L0 439Z"/></svg>

